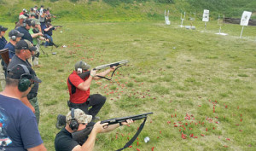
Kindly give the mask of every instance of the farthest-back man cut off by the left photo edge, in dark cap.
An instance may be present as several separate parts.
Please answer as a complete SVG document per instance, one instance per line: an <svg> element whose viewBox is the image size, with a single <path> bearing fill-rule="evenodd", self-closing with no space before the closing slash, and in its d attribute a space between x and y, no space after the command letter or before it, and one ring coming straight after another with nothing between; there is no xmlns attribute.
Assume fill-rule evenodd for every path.
<svg viewBox="0 0 256 151"><path fill-rule="evenodd" d="M3 49L5 47L5 45L7 44L7 40L4 38L5 32L8 30L8 28L0 26L0 49ZM1 58L1 64L2 64L2 57L0 55ZM2 90L5 87L5 76L4 76L4 70L3 67L0 67L0 80L1 80L1 87Z"/></svg>

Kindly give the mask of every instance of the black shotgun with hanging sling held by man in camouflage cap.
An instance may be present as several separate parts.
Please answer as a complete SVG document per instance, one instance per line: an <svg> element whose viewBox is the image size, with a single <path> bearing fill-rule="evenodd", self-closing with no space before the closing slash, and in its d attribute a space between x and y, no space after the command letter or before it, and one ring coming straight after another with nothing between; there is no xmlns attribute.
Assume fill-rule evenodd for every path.
<svg viewBox="0 0 256 151"><path fill-rule="evenodd" d="M131 138L131 140L129 142L127 142L125 144L124 148L127 148L131 145L132 142L134 142L134 140L137 138L139 133L143 130L143 126L145 125L148 114L152 114L152 112L151 113L137 114L137 115L134 115L134 116L127 116L127 117L123 117L123 118L107 119L107 120L101 121L101 124L108 123L108 125L114 125L114 124L117 124L117 123L125 122L127 119L132 119L132 120L144 119L144 121L140 125L137 133ZM77 142L81 142L86 136L90 135L90 132L92 131L92 129L93 129L93 127L90 126L90 127L86 127L84 130L73 132L72 133L73 140L75 140ZM124 149L124 148L121 148L121 150Z"/></svg>

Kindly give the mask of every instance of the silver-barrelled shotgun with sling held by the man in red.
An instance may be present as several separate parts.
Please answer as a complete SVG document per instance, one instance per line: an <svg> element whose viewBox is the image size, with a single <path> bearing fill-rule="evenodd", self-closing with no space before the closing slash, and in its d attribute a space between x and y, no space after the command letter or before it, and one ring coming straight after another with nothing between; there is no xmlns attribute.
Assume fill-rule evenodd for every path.
<svg viewBox="0 0 256 151"><path fill-rule="evenodd" d="M125 65L126 63L128 63L129 61L128 60L125 60L125 61L118 61L118 62L113 62L113 63L109 63L109 64L106 64L106 65L102 65L102 66L98 66L98 67L95 67L93 70L101 70L101 69L104 69L104 68L107 68L107 67L114 67L116 66L116 68L114 69L113 73L119 68L119 67L122 67L123 65ZM120 65L120 66L119 66ZM113 77L113 73L111 75L111 78L106 78L106 77L102 77L102 76L97 76L99 78L106 78L108 80L111 80L112 77ZM84 72L84 73L80 73L79 74L79 77L80 78L86 78L90 76L90 71L87 71L87 72Z"/></svg>

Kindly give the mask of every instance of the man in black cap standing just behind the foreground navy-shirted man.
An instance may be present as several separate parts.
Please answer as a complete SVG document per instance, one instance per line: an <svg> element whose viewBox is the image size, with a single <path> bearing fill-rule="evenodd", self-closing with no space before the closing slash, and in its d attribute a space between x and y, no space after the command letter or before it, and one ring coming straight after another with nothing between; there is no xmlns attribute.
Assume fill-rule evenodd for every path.
<svg viewBox="0 0 256 151"><path fill-rule="evenodd" d="M31 69L32 74L37 78L37 75L34 70L32 70L31 64L27 61L34 54L34 51L37 48L32 46L32 44L27 40L20 40L15 47L15 55L12 58L12 61L9 62L7 70L15 67L17 64L22 64L27 68ZM39 81L39 80L38 80ZM38 106L38 87L39 84L36 83L32 90L30 90L29 94L25 97L21 98L21 102L23 102L27 107L30 107L32 112L35 113L37 122L39 123L40 111Z"/></svg>

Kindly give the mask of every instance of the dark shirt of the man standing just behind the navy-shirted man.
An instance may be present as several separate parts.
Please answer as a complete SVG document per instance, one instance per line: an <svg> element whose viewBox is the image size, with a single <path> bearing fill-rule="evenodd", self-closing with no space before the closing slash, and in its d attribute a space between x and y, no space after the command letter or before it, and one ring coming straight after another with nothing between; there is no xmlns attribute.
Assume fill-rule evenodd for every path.
<svg viewBox="0 0 256 151"><path fill-rule="evenodd" d="M28 61L21 60L17 55L14 55L12 60L9 62L7 70L11 69L12 67L15 67L17 64L25 65L28 68L29 72L32 73L32 75L37 76L35 71L32 69L31 64ZM35 83L32 89L30 90L29 94L38 93L38 87L39 87L39 84Z"/></svg>

